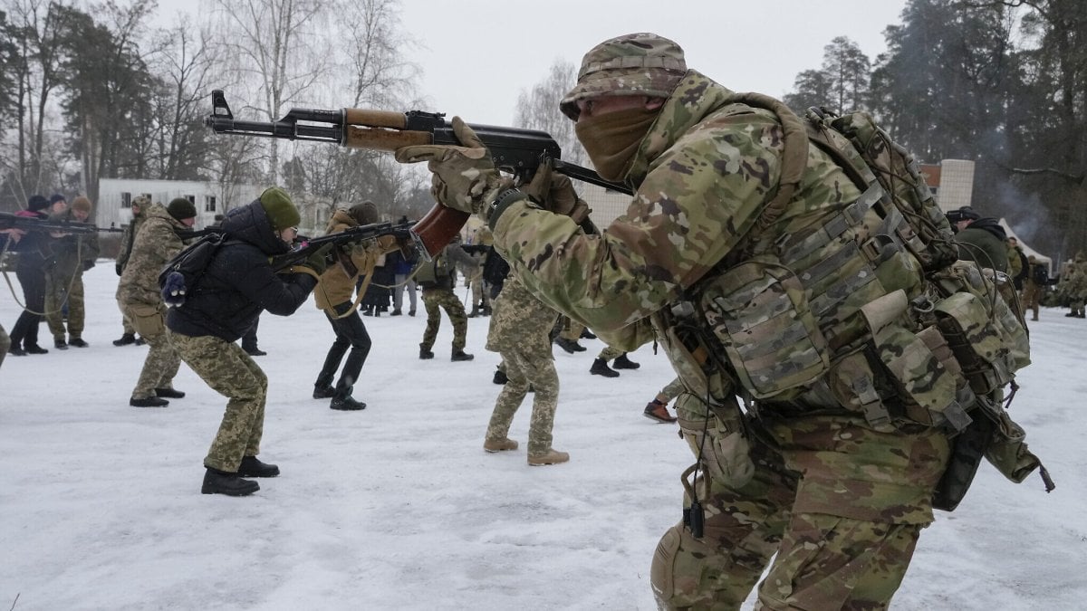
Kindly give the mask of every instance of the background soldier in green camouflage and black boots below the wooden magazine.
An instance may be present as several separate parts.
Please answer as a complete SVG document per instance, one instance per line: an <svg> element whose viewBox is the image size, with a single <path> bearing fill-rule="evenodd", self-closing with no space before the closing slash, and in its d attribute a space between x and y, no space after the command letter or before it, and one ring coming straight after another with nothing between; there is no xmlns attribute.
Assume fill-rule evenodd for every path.
<svg viewBox="0 0 1087 611"><path fill-rule="evenodd" d="M420 359L433 359L434 340L438 338L438 327L441 326L441 310L446 311L450 324L453 325L453 349L450 360L471 361L474 354L464 351L468 321L464 313L464 304L457 298L453 287L457 286L457 265L465 269L474 267L475 259L461 248L459 241L446 246L434 260L424 263L415 280L423 288L423 306L426 308L426 329L423 341L418 345Z"/></svg>

